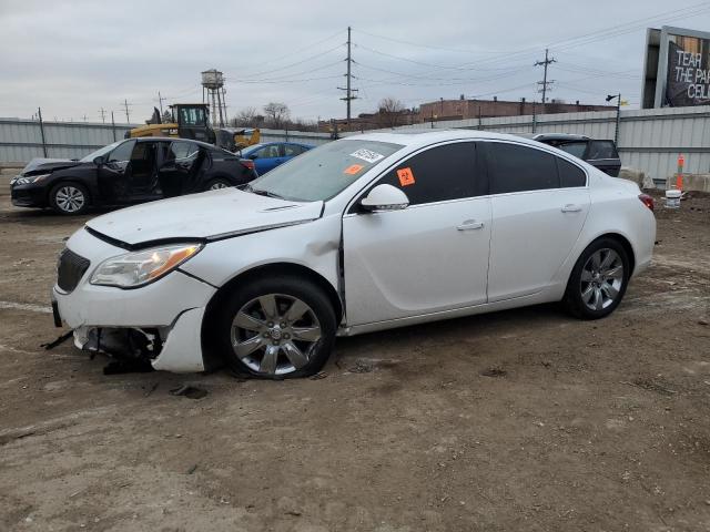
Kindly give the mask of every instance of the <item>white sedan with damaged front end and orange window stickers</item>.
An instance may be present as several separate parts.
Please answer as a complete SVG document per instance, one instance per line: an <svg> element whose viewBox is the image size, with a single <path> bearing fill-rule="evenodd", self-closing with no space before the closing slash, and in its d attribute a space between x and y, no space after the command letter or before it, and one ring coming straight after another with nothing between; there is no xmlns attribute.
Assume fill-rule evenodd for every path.
<svg viewBox="0 0 710 532"><path fill-rule="evenodd" d="M318 371L335 337L562 301L608 316L646 268L652 200L535 141L473 131L332 142L227 188L90 221L55 323L154 368Z"/></svg>

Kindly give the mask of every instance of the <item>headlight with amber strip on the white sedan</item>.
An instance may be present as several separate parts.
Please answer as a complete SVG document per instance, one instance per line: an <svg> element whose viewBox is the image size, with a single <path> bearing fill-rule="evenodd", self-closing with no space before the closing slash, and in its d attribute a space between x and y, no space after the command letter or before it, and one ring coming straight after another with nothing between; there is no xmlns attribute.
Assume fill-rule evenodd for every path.
<svg viewBox="0 0 710 532"><path fill-rule="evenodd" d="M112 257L99 265L92 285L135 288L172 272L202 248L202 244L178 244Z"/></svg>

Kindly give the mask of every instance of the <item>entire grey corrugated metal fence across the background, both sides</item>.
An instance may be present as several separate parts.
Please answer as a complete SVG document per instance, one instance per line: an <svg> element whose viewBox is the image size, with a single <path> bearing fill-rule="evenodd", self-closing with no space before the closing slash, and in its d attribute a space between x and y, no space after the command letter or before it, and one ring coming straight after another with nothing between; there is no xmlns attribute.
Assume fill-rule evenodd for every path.
<svg viewBox="0 0 710 532"><path fill-rule="evenodd" d="M48 157L82 157L123 139L126 124L44 122ZM616 112L547 114L434 122L397 127L396 131L428 129L475 129L505 133L577 133L613 139ZM390 130L387 130L390 131ZM327 133L262 130L262 141L323 144ZM678 155L686 157L687 173L710 173L710 106L622 111L619 151L625 166L665 180L677 168ZM0 162L26 162L42 157L42 133L38 121L0 119Z"/></svg>

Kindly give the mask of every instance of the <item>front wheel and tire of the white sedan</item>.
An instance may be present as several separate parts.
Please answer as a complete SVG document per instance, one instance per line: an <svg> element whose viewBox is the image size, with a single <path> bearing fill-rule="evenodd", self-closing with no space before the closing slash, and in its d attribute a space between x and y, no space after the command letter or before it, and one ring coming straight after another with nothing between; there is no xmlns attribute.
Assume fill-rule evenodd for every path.
<svg viewBox="0 0 710 532"><path fill-rule="evenodd" d="M215 335L234 371L284 379L318 372L335 330L333 306L318 286L276 276L237 288L221 310Z"/></svg>

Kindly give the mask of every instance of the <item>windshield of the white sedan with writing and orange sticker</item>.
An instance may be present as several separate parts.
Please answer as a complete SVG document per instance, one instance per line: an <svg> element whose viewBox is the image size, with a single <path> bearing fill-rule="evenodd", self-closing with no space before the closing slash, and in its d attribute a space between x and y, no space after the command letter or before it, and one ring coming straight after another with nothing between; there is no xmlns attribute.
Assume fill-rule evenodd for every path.
<svg viewBox="0 0 710 532"><path fill-rule="evenodd" d="M329 200L402 147L376 141L328 142L276 166L248 188L296 202Z"/></svg>

